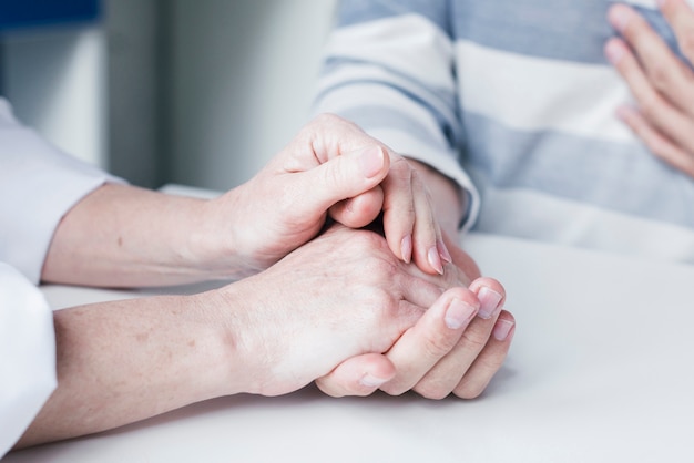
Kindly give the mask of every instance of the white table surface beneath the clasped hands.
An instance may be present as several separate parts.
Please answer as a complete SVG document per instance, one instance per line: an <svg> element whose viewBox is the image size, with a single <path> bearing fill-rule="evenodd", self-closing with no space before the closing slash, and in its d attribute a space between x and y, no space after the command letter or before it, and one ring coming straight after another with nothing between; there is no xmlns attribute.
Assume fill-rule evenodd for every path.
<svg viewBox="0 0 694 463"><path fill-rule="evenodd" d="M694 462L694 267L472 235L518 321L478 400L212 400L20 462ZM133 292L45 287L55 307Z"/></svg>

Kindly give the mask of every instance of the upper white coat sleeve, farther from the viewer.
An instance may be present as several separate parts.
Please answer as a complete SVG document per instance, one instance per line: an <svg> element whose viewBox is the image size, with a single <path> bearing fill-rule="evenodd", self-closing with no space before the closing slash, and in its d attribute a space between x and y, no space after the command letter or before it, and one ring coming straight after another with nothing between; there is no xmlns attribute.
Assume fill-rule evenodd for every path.
<svg viewBox="0 0 694 463"><path fill-rule="evenodd" d="M104 182L123 181L60 152L0 99L0 261L38 284L60 219Z"/></svg>

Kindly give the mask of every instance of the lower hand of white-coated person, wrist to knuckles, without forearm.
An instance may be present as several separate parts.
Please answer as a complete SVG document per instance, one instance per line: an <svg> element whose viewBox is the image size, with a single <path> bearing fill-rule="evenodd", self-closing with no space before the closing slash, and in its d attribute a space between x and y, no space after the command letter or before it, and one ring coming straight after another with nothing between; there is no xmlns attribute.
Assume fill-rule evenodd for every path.
<svg viewBox="0 0 694 463"><path fill-rule="evenodd" d="M442 277L398 260L380 235L336 225L267 270L223 289L231 302L220 307L235 301L247 307L229 326L238 347L235 377L243 381L229 393L292 392L348 358L392 351L445 286ZM468 302L466 313L451 312L459 307L450 295ZM476 306L472 292L458 288L441 299L437 313L448 310L462 325Z"/></svg>

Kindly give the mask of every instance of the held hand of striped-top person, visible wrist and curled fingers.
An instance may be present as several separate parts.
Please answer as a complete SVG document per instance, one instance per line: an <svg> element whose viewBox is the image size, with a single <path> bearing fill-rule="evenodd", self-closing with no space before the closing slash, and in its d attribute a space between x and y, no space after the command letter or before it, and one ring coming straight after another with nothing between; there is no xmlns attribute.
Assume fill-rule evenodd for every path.
<svg viewBox="0 0 694 463"><path fill-rule="evenodd" d="M397 395L408 390L430 399L442 399L451 392L463 399L473 399L487 388L499 370L513 338L516 320L502 310L503 287L490 278L479 278L477 264L448 237L458 236L458 224L465 209L457 186L446 176L417 161L409 160L428 191L436 198L432 210L441 225L442 236L451 253L453 265L446 274L451 281L469 285L478 296L479 313L463 331L442 329L441 320L418 323L381 358L370 357L370 367L392 379L380 385ZM471 281L471 282L470 282ZM385 360L388 361L385 361ZM367 395L377 387L349 381L360 360L350 359L331 375L316 381L330 395ZM395 369L394 369L395 366ZM338 380L341 380L338 382Z"/></svg>

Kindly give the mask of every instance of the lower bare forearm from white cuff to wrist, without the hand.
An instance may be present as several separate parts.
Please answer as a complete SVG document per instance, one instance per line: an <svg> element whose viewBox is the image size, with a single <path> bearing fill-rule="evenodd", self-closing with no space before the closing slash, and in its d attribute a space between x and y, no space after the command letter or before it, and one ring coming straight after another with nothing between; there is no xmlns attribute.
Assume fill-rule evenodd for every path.
<svg viewBox="0 0 694 463"><path fill-rule="evenodd" d="M214 292L54 313L58 389L18 446L69 439L238 392ZM204 299L203 299L204 298ZM238 387L241 388L241 387Z"/></svg>

